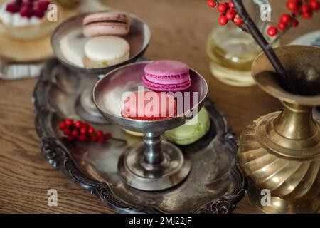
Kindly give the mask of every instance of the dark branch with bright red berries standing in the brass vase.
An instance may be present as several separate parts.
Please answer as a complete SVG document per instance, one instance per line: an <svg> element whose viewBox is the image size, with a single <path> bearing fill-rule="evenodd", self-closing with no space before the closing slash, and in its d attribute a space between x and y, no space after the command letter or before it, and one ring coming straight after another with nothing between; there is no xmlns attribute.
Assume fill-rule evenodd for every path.
<svg viewBox="0 0 320 228"><path fill-rule="evenodd" d="M242 28L243 31L251 34L252 38L255 39L257 44L262 48L262 51L264 51L270 63L272 63L275 71L277 71L282 86L292 93L297 93L297 88L295 88L294 83L287 76L282 63L274 53L272 43L278 41L279 38L284 36L284 34L289 31L289 28L299 25L297 16L302 16L304 19L311 18L313 11L318 11L320 8L319 0L287 0L287 9L292 11L292 14L282 14L277 27L270 26L267 29L268 36L277 36L274 38L272 43L267 42L265 36L263 36L263 34L255 25L255 22L252 21L250 15L245 9L245 6L242 4L242 0L230 0L225 3L222 3L218 0L207 1L211 8L214 8L218 5L217 10L221 13L219 17L220 25L225 26L228 24L228 21L233 21L233 23ZM243 25L245 25L245 27ZM278 28L280 32L278 32Z"/></svg>

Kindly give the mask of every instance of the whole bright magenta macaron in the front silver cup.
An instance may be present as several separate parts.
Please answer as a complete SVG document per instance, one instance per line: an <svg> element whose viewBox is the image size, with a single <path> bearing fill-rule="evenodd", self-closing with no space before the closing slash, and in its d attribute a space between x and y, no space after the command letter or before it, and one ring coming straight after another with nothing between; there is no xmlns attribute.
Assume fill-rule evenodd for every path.
<svg viewBox="0 0 320 228"><path fill-rule="evenodd" d="M154 91L176 92L191 86L190 69L186 63L161 60L144 67L142 82Z"/></svg>

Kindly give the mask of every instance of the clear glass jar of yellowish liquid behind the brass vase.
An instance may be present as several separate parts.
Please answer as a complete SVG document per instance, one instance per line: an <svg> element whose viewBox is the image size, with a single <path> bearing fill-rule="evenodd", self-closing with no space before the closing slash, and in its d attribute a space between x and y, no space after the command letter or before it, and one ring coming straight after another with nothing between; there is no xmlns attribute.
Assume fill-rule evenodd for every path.
<svg viewBox="0 0 320 228"><path fill-rule="evenodd" d="M260 6L269 4L269 1L251 0L243 3L252 20L265 34L269 21L262 21ZM251 77L251 65L262 50L249 33L230 22L225 26L219 25L208 36L206 51L210 57L210 71L218 80L231 86L255 84Z"/></svg>

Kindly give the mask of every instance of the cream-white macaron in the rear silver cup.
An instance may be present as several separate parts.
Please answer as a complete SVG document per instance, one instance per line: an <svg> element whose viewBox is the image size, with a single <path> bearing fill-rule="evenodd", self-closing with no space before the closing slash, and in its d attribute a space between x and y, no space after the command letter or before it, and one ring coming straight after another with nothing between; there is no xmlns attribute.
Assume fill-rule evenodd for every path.
<svg viewBox="0 0 320 228"><path fill-rule="evenodd" d="M88 68L102 68L129 59L129 43L118 36L97 36L85 43L83 62Z"/></svg>

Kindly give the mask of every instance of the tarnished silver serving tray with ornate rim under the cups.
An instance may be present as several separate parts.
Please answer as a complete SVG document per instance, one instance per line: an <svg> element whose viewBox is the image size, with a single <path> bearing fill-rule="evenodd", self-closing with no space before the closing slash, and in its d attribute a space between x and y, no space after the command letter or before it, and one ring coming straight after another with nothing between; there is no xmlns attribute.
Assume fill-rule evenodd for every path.
<svg viewBox="0 0 320 228"><path fill-rule="evenodd" d="M169 190L144 192L124 185L120 179L119 156L125 147L142 138L127 135L114 125L94 125L121 140L105 145L65 140L58 123L79 118L74 108L76 98L96 81L68 70L55 59L44 66L33 97L36 130L50 164L120 213L228 213L235 209L245 195L246 180L238 167L235 136L209 98L205 106L210 113L210 131L198 142L180 147L191 159L191 173Z"/></svg>

